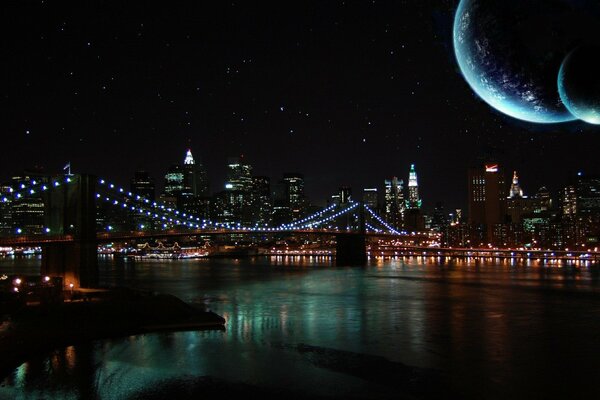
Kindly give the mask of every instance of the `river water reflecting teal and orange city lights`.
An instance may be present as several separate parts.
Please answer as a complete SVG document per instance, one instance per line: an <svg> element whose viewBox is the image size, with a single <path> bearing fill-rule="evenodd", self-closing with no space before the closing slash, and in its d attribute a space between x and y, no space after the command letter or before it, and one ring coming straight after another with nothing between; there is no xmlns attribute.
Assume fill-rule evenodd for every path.
<svg viewBox="0 0 600 400"><path fill-rule="evenodd" d="M15 268L0 264L0 272ZM374 259L364 268L326 258L106 258L101 281L203 305L227 329L59 349L17 368L0 398L124 398L198 376L311 394L389 394L316 366L290 348L299 343L446 371L460 391L487 398L599 393L600 285L587 268L431 257Z"/></svg>

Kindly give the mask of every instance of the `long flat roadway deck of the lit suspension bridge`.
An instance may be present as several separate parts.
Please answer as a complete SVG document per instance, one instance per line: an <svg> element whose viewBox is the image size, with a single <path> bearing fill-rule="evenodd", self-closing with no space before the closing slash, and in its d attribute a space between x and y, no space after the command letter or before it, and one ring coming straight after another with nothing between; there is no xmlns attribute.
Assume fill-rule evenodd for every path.
<svg viewBox="0 0 600 400"><path fill-rule="evenodd" d="M129 231L129 232L99 232L96 234L96 240L98 244L111 243L122 240L133 240L133 239L163 239L171 237L185 237L185 236L223 236L223 235L293 235L293 234L309 234L309 235L320 235L320 236L335 236L340 234L355 234L364 235L367 238L380 238L380 239L394 239L399 236L392 233L383 232L352 232L352 231L339 231L339 230L323 230L323 229L290 229L290 230L252 230L252 229L197 229L197 230L165 230L165 231ZM427 235L415 235L410 236L411 238L426 238ZM53 243L72 243L75 242L73 235L52 235L52 234L41 234L41 235L20 235L20 236L4 236L0 237L0 246L43 246Z"/></svg>

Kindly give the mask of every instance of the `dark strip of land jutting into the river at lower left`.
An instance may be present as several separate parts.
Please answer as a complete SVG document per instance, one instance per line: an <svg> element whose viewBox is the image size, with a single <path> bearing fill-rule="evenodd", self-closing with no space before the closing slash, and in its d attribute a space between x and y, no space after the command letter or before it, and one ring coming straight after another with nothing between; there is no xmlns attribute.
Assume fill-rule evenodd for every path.
<svg viewBox="0 0 600 400"><path fill-rule="evenodd" d="M78 294L60 304L28 305L2 324L0 377L30 357L82 341L157 331L224 330L224 318L171 295L129 289Z"/></svg>

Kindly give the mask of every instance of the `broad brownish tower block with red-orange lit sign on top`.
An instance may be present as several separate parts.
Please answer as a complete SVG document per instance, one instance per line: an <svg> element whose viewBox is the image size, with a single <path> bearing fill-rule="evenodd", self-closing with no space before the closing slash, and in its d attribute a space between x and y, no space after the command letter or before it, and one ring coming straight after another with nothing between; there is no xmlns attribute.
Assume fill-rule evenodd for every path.
<svg viewBox="0 0 600 400"><path fill-rule="evenodd" d="M494 229L504 223L506 215L507 191L498 164L469 169L468 190L469 224L477 231L473 244L493 243Z"/></svg>

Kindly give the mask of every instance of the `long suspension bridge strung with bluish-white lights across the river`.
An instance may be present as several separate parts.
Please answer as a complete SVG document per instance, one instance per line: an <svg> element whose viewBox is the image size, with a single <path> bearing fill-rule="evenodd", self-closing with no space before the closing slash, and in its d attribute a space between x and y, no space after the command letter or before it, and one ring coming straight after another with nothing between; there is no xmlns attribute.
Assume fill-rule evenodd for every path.
<svg viewBox="0 0 600 400"><path fill-rule="evenodd" d="M43 233L27 234L17 227L13 234L0 237L0 246L40 246L43 274L62 276L65 282L83 287L96 283L97 247L101 243L184 236L330 235L336 239L338 265L361 265L367 260L367 238L408 235L360 202L331 205L279 226L243 226L239 222L201 218L135 195L106 179L83 174L31 180L9 188L0 201L27 196L41 197L44 201ZM100 204L143 217L151 222L152 229L140 226L137 230L119 230L107 225L100 230L96 221Z"/></svg>

